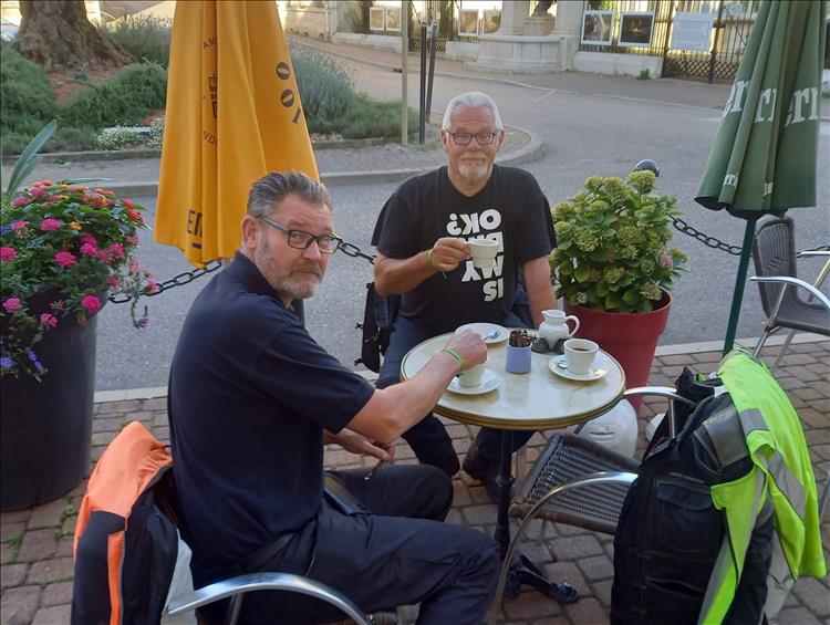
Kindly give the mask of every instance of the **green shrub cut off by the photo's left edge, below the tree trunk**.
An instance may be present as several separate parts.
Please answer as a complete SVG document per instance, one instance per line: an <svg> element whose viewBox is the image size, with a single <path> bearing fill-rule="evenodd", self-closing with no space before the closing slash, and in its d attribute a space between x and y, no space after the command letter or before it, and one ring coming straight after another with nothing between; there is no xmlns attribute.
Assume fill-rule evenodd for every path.
<svg viewBox="0 0 830 625"><path fill-rule="evenodd" d="M0 45L0 135L3 152L21 152L56 113L54 92L37 63ZM12 150L12 145L14 150Z"/></svg>

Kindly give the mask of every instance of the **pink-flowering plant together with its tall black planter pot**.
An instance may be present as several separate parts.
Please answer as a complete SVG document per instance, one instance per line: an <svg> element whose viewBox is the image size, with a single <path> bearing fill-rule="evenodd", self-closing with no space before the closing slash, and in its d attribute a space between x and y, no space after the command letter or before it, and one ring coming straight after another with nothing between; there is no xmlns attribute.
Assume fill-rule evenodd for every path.
<svg viewBox="0 0 830 625"><path fill-rule="evenodd" d="M9 190L0 206L2 510L49 501L84 478L95 315L107 292L127 293L144 326L137 298L157 289L134 258L141 206L80 184Z"/></svg>

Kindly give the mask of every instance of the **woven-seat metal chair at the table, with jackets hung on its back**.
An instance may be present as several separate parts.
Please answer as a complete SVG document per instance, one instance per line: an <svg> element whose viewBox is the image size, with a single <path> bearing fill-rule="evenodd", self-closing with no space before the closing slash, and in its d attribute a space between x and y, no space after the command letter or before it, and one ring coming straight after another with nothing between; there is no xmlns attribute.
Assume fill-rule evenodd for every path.
<svg viewBox="0 0 830 625"><path fill-rule="evenodd" d="M657 396L670 399L665 418L674 437L673 403L695 403L667 386L631 388L622 398ZM536 518L614 534L629 487L637 477L640 462L572 434L558 434L533 465L521 491L510 507L511 517L523 517L510 541L496 588L495 606L501 602L509 563L528 523ZM491 610L494 610L491 608Z"/></svg>

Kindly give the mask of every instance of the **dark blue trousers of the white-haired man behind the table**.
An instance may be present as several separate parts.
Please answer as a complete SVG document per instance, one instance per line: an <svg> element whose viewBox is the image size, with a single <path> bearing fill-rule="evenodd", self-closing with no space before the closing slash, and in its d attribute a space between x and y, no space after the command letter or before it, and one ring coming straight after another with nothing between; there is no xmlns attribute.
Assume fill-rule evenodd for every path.
<svg viewBox="0 0 830 625"><path fill-rule="evenodd" d="M526 324L515 314L510 313L501 322L506 327L525 327ZM406 353L418 343L435 336L434 332L422 327L405 316L398 315L392 326L390 346L383 360L377 388L386 388L401 381L401 361ZM512 450L520 449L533 436L532 431L513 431ZM444 466L443 460L447 456L455 456L453 441L447 435L444 425L429 413L421 421L403 434L404 440L409 444L415 456L425 465ZM476 437L476 445L480 450L480 458L488 465L496 466L499 461L501 449L501 430L481 428Z"/></svg>

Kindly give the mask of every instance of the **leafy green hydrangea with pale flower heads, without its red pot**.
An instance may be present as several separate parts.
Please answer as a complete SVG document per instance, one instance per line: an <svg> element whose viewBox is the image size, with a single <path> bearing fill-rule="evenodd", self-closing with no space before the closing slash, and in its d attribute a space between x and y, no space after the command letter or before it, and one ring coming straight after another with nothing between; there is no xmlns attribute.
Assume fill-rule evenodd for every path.
<svg viewBox="0 0 830 625"><path fill-rule="evenodd" d="M652 195L652 171L626 180L594 176L553 207L550 265L559 298L610 312L649 312L670 291L687 257L670 248L671 196Z"/></svg>

